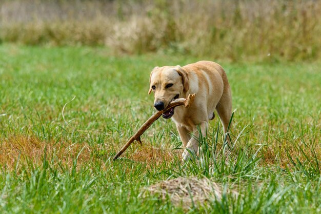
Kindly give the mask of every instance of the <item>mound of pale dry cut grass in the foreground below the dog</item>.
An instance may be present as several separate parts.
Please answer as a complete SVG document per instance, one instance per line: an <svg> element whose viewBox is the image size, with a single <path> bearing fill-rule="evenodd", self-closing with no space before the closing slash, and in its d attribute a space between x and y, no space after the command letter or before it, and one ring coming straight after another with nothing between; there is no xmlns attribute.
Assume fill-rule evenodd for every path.
<svg viewBox="0 0 321 214"><path fill-rule="evenodd" d="M237 191L228 189L235 197ZM207 178L197 179L179 177L161 181L144 189L143 194L155 194L160 199L170 198L175 206L191 207L193 204L202 204L207 201L221 200L224 194L223 187Z"/></svg>

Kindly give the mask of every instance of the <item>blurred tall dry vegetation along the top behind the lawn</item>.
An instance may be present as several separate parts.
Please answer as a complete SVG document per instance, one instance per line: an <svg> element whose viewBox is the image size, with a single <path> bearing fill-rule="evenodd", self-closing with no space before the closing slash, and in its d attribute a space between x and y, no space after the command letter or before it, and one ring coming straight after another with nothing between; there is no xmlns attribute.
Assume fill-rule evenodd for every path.
<svg viewBox="0 0 321 214"><path fill-rule="evenodd" d="M231 61L321 57L319 0L0 0L0 7L0 43Z"/></svg>

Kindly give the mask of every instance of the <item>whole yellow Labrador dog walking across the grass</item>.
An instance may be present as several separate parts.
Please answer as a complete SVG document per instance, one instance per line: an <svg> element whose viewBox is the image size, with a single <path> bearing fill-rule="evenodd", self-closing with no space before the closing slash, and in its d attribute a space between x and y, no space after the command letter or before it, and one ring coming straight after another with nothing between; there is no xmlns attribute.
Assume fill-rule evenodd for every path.
<svg viewBox="0 0 321 214"><path fill-rule="evenodd" d="M224 69L211 61L199 61L183 67L155 67L150 73L148 94L154 93L154 107L164 110L168 104L178 98L187 98L195 93L195 100L189 106L177 106L162 114L163 118L172 118L176 124L180 140L184 145L183 160L197 154L198 128L206 135L209 120L215 117L216 110L227 133L232 115L232 94ZM229 139L228 139L229 140Z"/></svg>

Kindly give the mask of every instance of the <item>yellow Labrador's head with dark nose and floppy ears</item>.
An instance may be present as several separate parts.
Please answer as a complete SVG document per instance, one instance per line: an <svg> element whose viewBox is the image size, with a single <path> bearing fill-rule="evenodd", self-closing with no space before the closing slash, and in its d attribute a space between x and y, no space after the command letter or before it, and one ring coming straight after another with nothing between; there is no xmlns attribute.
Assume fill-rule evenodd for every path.
<svg viewBox="0 0 321 214"><path fill-rule="evenodd" d="M165 109L168 104L177 98L186 96L189 90L188 73L179 65L155 67L150 73L150 89L154 92L154 107L160 111ZM174 108L163 113L163 118L169 119L174 114Z"/></svg>

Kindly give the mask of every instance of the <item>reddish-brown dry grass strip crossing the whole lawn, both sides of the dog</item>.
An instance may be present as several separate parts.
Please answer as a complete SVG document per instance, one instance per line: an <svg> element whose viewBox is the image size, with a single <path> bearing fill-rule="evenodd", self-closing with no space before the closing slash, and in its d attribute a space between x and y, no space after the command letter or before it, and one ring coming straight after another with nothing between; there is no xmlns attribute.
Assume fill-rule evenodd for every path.
<svg viewBox="0 0 321 214"><path fill-rule="evenodd" d="M271 141L270 145L265 147L266 149L259 152L264 160L264 162L260 162L260 165L277 164L286 168L293 164L291 158L309 165L313 164L314 157L321 157L321 147L318 140L312 146L306 145L302 139L297 139L296 142L296 144L289 144L286 139L282 142ZM118 145L119 148L121 146L122 144ZM221 146L217 145L217 150ZM253 149L255 150L255 147ZM17 171L27 165L40 166L44 162L45 154L46 160L54 165L62 163L71 166L74 160L77 160L79 165L90 164L93 160L103 163L106 158L110 158L108 153L116 150L116 148L107 148L106 146L102 148L101 145L87 143L42 141L33 135L11 135L3 139L0 145L0 165L6 166L10 170L17 169ZM149 142L143 142L142 146L134 143L123 157L135 162L146 163L148 166L160 166L164 162L171 162L175 156L179 157L180 152L180 150L172 150L170 147L158 148ZM226 157L228 158L230 155L233 154L228 154ZM309 160L306 157L309 157Z"/></svg>

